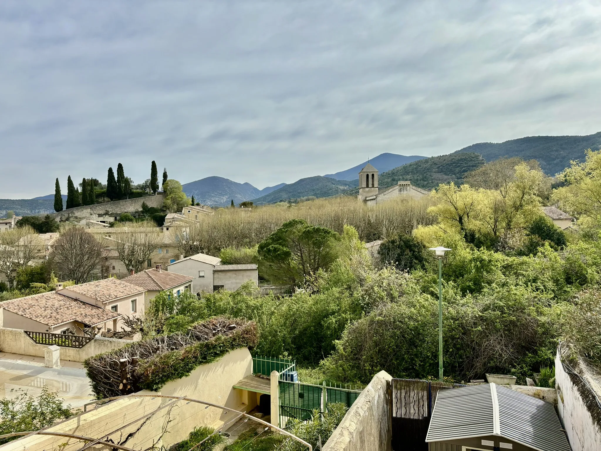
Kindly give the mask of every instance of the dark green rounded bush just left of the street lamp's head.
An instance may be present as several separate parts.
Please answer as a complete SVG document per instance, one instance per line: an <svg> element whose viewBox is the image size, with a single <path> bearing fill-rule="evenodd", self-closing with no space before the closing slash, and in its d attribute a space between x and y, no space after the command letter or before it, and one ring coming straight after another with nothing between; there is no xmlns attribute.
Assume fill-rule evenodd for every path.
<svg viewBox="0 0 601 451"><path fill-rule="evenodd" d="M426 246L413 235L399 233L380 245L378 255L383 264L394 264L400 271L426 268Z"/></svg>

